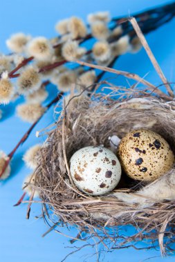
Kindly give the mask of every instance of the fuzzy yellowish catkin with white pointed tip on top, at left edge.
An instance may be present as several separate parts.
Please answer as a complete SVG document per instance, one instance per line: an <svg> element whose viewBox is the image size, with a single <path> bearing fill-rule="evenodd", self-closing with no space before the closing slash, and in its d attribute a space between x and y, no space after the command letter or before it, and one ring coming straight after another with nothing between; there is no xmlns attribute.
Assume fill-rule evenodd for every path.
<svg viewBox="0 0 175 262"><path fill-rule="evenodd" d="M8 79L8 73L3 73L0 79L0 104L6 104L10 102L14 94L14 87Z"/></svg>

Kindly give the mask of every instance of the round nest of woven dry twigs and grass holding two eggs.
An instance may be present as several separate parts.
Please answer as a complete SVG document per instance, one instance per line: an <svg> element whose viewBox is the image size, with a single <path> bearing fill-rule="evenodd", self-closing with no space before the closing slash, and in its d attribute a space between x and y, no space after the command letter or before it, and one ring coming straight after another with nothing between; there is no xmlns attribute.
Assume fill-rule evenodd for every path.
<svg viewBox="0 0 175 262"><path fill-rule="evenodd" d="M109 137L122 138L138 128L161 134L174 150L174 101L141 95L120 98L82 94L67 103L39 154L34 188L42 199L44 216L51 220L50 212L55 214L54 225L77 225L103 243L108 239L112 248L145 237L153 242L158 240L164 254L165 246L174 242L174 169L149 184L131 181L122 174L117 188L102 196L81 192L70 179L69 161L77 150L88 145L109 148ZM139 231L123 236L118 225L133 225Z"/></svg>

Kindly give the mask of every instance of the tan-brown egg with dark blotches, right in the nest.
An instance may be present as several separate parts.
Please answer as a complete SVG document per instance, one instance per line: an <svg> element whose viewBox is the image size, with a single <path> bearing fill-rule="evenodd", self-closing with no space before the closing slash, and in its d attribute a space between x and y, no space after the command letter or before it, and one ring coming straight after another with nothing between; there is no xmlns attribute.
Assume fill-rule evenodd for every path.
<svg viewBox="0 0 175 262"><path fill-rule="evenodd" d="M150 130L134 130L125 135L118 157L126 174L139 181L154 181L174 165L167 141Z"/></svg>

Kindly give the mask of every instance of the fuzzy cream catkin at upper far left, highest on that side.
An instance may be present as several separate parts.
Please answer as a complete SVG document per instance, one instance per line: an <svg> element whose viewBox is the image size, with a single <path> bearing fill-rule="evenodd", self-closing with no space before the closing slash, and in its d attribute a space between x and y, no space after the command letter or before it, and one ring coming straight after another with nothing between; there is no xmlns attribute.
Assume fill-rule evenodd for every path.
<svg viewBox="0 0 175 262"><path fill-rule="evenodd" d="M26 44L30 40L30 36L23 34L21 32L17 34L12 34L10 39L6 40L6 45L12 52L21 53L24 52Z"/></svg>

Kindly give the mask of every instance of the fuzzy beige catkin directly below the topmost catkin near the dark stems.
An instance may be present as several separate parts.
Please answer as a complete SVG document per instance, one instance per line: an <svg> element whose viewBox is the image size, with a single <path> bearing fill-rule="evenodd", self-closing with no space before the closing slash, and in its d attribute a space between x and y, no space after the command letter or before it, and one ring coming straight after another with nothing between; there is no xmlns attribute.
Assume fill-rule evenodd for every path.
<svg viewBox="0 0 175 262"><path fill-rule="evenodd" d="M109 37L109 29L106 23L102 21L96 21L91 24L91 33L98 40L105 40Z"/></svg>

